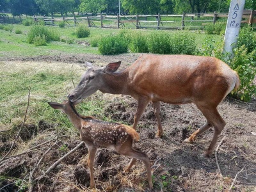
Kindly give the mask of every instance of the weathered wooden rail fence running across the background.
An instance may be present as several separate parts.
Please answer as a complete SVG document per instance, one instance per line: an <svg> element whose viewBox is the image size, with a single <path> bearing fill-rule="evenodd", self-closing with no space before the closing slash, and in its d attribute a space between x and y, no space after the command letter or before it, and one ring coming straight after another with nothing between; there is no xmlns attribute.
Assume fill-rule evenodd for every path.
<svg viewBox="0 0 256 192"><path fill-rule="evenodd" d="M47 26L65 26L87 24L97 28L152 28L152 29L202 29L205 24L215 23L218 18L228 17L228 13L184 13L182 15L97 15L87 17L43 17L34 16L35 22L44 22ZM28 17L8 17L0 15L0 23L20 23ZM242 23L256 24L256 10L244 10ZM255 28L255 26L253 26Z"/></svg>

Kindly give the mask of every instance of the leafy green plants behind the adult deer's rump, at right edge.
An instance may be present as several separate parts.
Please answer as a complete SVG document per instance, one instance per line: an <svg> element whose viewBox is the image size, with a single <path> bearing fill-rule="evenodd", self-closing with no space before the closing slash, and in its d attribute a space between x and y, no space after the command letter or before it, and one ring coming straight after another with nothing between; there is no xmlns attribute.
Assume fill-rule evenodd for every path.
<svg viewBox="0 0 256 192"><path fill-rule="evenodd" d="M235 48L230 67L236 70L241 81L239 89L233 95L246 102L256 97L256 86L253 84L256 75L256 49L248 53L245 45Z"/></svg>

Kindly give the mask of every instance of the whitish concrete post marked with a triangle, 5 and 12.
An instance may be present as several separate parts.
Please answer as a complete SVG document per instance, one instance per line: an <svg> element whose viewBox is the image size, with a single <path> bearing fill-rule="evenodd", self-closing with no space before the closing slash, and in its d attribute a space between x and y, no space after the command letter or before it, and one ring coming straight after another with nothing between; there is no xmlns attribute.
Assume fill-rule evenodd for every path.
<svg viewBox="0 0 256 192"><path fill-rule="evenodd" d="M236 46L237 36L241 27L245 0L231 0L225 32L225 45L223 53L228 52L232 57L233 48Z"/></svg>

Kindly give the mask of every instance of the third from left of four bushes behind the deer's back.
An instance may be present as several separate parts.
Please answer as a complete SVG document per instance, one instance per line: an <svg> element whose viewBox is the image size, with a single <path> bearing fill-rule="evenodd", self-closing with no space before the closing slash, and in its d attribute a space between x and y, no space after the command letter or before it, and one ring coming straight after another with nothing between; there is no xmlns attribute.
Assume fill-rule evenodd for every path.
<svg viewBox="0 0 256 192"><path fill-rule="evenodd" d="M157 54L170 53L170 35L166 32L151 33L147 38L148 51Z"/></svg>

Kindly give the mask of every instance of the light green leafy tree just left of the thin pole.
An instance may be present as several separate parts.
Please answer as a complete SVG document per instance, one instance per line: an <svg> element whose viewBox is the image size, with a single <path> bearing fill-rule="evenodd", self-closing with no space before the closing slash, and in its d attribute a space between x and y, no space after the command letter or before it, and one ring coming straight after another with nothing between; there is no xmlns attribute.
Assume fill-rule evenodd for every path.
<svg viewBox="0 0 256 192"><path fill-rule="evenodd" d="M79 9L81 12L97 14L106 9L107 4L105 0L81 0Z"/></svg>

